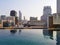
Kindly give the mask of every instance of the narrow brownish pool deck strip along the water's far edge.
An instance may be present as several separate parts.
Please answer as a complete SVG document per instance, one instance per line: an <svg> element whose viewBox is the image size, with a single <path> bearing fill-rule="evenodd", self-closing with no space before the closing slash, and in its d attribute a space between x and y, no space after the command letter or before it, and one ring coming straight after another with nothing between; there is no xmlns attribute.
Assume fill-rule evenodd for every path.
<svg viewBox="0 0 60 45"><path fill-rule="evenodd" d="M31 26L31 27L0 27L0 29L48 29L48 30L60 30L60 28L46 28L43 26Z"/></svg>

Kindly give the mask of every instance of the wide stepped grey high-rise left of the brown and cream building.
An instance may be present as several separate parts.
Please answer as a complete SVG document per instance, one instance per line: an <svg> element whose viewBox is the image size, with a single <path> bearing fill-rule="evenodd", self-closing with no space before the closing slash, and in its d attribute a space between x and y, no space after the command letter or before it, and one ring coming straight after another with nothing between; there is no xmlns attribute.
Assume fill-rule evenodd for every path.
<svg viewBox="0 0 60 45"><path fill-rule="evenodd" d="M43 9L43 15L41 16L41 20L45 21L45 25L47 25L47 18L48 16L51 15L51 7L50 6L44 6Z"/></svg>

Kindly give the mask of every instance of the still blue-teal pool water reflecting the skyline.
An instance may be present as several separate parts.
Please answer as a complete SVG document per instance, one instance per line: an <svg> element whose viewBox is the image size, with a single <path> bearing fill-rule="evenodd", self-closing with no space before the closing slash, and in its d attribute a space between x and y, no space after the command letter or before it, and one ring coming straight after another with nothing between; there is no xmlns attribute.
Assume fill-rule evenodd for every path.
<svg viewBox="0 0 60 45"><path fill-rule="evenodd" d="M43 29L0 29L0 45L60 45L59 32Z"/></svg>

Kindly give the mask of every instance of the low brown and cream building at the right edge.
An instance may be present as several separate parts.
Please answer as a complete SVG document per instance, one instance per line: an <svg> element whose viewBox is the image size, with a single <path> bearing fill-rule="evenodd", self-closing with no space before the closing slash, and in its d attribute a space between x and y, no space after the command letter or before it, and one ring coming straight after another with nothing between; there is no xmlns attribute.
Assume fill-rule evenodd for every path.
<svg viewBox="0 0 60 45"><path fill-rule="evenodd" d="M60 28L60 14L55 13L52 16L49 16L48 19L48 28Z"/></svg>

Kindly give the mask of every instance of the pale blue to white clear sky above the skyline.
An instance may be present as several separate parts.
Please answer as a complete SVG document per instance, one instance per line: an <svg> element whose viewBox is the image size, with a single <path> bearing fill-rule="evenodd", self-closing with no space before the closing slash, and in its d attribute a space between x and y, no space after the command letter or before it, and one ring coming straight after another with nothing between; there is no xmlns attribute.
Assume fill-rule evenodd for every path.
<svg viewBox="0 0 60 45"><path fill-rule="evenodd" d="M51 6L52 13L56 13L56 0L0 0L0 15L10 15L11 10L19 11L27 20L30 17L38 17L40 20L43 15L44 6Z"/></svg>

